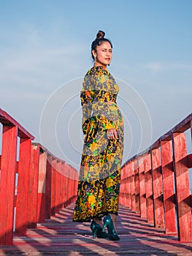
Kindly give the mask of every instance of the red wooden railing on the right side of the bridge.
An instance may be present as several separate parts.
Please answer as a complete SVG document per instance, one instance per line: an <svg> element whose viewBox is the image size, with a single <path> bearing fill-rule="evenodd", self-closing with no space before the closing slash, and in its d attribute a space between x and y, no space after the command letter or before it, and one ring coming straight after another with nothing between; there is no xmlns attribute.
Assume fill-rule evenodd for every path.
<svg viewBox="0 0 192 256"><path fill-rule="evenodd" d="M188 129L192 135L192 114L128 159L121 172L120 203L165 233L178 233L179 241L192 241Z"/></svg>

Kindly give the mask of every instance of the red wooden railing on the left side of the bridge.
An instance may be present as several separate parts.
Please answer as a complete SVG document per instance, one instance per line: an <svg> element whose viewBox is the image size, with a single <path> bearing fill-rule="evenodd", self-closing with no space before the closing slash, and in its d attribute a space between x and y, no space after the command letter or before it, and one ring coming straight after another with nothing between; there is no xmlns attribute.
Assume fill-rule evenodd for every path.
<svg viewBox="0 0 192 256"><path fill-rule="evenodd" d="M14 229L26 235L75 200L78 173L1 109L0 122L0 245L11 245Z"/></svg>

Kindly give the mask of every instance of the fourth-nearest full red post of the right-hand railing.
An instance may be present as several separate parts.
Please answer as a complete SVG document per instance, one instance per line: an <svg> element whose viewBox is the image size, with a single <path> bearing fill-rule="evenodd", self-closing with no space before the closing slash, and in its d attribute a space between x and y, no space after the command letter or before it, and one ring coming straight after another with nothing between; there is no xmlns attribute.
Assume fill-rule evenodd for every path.
<svg viewBox="0 0 192 256"><path fill-rule="evenodd" d="M152 187L152 170L151 170L150 153L145 154L144 170L145 170L147 222L150 223L150 224L154 224L153 187Z"/></svg>

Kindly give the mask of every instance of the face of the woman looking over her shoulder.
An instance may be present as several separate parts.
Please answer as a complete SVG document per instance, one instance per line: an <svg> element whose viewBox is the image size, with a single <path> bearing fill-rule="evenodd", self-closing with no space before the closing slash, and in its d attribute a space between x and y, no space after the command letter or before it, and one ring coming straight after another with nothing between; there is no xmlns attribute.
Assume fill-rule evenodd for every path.
<svg viewBox="0 0 192 256"><path fill-rule="evenodd" d="M107 67L112 60L110 42L102 42L101 45L97 45L96 51L93 50L93 56L96 57L96 65L101 64L103 67Z"/></svg>

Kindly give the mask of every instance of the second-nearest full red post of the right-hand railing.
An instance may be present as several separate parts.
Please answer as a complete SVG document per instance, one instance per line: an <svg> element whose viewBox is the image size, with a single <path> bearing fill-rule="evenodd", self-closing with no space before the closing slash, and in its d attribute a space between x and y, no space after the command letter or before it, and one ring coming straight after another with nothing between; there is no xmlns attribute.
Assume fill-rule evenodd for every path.
<svg viewBox="0 0 192 256"><path fill-rule="evenodd" d="M164 188L165 233L176 233L175 198L172 165L172 141L161 140L161 162Z"/></svg>

